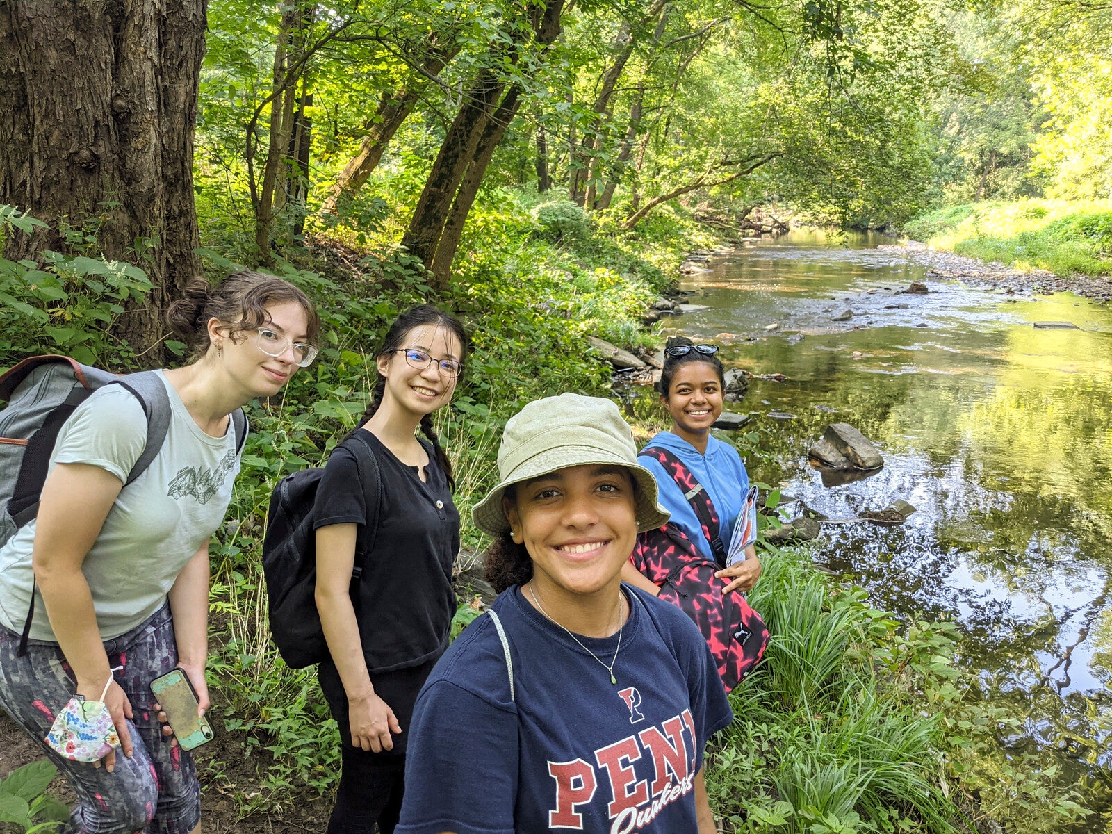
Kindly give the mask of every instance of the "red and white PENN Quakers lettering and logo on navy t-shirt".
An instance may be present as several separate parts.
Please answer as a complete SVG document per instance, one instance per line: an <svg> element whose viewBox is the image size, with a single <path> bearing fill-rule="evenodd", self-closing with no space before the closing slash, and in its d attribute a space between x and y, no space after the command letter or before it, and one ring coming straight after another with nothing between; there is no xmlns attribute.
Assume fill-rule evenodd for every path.
<svg viewBox="0 0 1112 834"><path fill-rule="evenodd" d="M641 694L634 687L619 694L633 712L633 696L639 703ZM609 834L639 831L694 790L695 745L695 722L684 709L658 726L599 747L594 763L548 762L548 775L556 783L548 827L583 831L577 806L589 803L596 791L608 790Z"/></svg>

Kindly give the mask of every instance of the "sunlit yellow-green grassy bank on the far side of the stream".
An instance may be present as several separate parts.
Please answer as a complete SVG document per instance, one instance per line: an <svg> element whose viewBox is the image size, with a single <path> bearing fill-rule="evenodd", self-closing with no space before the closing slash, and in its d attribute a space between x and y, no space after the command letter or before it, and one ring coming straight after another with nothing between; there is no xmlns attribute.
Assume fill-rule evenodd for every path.
<svg viewBox="0 0 1112 834"><path fill-rule="evenodd" d="M1112 200L1014 200L951 206L904 231L937 249L1055 275L1112 275Z"/></svg>

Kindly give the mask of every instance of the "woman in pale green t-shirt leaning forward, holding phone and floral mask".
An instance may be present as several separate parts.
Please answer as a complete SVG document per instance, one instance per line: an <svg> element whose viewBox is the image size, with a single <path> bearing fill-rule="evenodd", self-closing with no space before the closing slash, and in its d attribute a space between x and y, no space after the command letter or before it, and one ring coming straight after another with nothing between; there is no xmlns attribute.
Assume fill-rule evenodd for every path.
<svg viewBox="0 0 1112 834"><path fill-rule="evenodd" d="M93 391L58 434L37 517L0 549L0 705L64 773L81 834L200 830L196 766L150 683L180 667L208 708L208 548L239 471L239 409L317 354L312 302L274 276L198 280L168 320L193 353L151 380L169 411L157 455L131 480L147 413L121 385ZM122 755L76 762L43 742L73 695L107 706Z"/></svg>

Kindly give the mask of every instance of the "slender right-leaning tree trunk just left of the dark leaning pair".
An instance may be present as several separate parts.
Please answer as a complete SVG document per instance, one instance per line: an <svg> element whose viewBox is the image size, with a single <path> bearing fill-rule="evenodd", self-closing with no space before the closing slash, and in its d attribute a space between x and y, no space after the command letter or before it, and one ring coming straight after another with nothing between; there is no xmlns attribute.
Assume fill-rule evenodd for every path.
<svg viewBox="0 0 1112 834"><path fill-rule="evenodd" d="M383 96L370 128L367 130L367 136L363 138L359 146L359 152L340 171L328 198L320 207L321 215L338 215L340 203L351 199L363 188L375 168L378 167L378 162L394 135L409 118L414 106L428 87L428 79L438 76L461 47L463 42L459 41L454 42L454 46L448 50L440 50L436 46L436 37L429 37L427 41L428 56L421 63L420 76L407 87Z"/></svg>

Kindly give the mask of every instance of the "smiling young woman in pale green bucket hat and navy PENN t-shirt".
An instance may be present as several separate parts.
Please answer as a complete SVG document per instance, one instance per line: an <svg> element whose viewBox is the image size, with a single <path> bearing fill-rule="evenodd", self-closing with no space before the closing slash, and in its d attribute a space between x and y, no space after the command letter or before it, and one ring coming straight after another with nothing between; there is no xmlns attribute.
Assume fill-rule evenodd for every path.
<svg viewBox="0 0 1112 834"><path fill-rule="evenodd" d="M692 622L620 582L667 519L629 427L606 399L530 403L498 473L473 517L502 593L417 701L396 831L712 834L703 749L733 714Z"/></svg>

